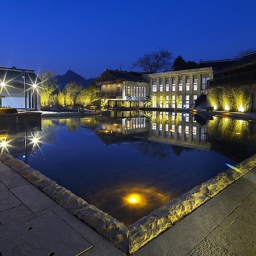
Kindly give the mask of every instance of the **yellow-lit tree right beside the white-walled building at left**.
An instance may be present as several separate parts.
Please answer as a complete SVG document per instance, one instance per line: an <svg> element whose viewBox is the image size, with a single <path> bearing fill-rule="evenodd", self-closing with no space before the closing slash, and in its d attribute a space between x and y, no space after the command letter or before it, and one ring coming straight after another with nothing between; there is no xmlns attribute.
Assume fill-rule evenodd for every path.
<svg viewBox="0 0 256 256"><path fill-rule="evenodd" d="M42 106L54 104L53 93L57 89L56 73L52 71L43 71L39 74L40 82L40 101Z"/></svg>

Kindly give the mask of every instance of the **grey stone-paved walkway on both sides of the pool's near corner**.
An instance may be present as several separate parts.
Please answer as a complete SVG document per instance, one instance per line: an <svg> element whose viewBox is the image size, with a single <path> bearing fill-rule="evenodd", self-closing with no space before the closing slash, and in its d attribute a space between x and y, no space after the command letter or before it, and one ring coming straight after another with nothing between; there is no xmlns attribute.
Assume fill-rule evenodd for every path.
<svg viewBox="0 0 256 256"><path fill-rule="evenodd" d="M0 255L123 255L0 162ZM256 255L256 168L139 250Z"/></svg>

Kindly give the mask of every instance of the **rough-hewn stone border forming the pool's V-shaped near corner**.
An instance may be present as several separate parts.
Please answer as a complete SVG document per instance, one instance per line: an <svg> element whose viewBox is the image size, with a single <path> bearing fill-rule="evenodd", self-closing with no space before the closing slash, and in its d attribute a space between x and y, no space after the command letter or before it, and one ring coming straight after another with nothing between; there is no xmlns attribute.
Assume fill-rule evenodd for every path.
<svg viewBox="0 0 256 256"><path fill-rule="evenodd" d="M176 222L199 208L256 166L256 155L253 155L237 164L236 170L229 168L221 172L163 207L154 210L127 228L125 224L108 213L103 212L92 204L88 204L79 196L61 187L55 181L34 170L21 160L15 159L5 152L0 155L0 160L56 201L56 203L96 229L98 233L108 238L119 249L129 254L135 253L143 245L171 228Z"/></svg>

